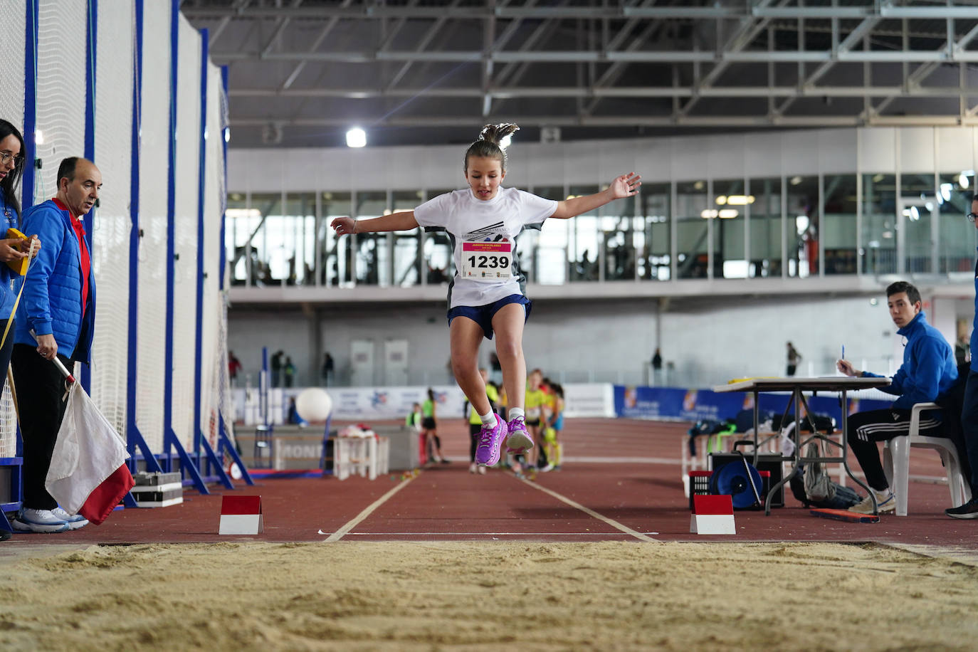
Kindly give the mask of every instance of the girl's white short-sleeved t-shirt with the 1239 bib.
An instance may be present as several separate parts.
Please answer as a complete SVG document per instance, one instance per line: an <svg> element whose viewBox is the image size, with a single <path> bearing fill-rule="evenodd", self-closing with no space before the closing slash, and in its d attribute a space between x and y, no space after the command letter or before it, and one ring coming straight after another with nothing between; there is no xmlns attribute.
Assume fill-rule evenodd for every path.
<svg viewBox="0 0 978 652"><path fill-rule="evenodd" d="M456 272L448 287L448 307L484 306L525 294L516 236L525 228L539 229L556 206L554 199L500 186L489 200L477 199L467 188L415 208L420 226L443 228L452 240Z"/></svg>

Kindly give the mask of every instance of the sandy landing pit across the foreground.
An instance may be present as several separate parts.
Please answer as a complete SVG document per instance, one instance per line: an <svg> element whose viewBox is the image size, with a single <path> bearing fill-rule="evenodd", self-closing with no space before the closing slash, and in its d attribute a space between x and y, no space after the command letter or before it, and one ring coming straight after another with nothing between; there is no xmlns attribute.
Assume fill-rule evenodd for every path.
<svg viewBox="0 0 978 652"><path fill-rule="evenodd" d="M0 648L974 649L978 568L920 552L638 542L7 548Z"/></svg>

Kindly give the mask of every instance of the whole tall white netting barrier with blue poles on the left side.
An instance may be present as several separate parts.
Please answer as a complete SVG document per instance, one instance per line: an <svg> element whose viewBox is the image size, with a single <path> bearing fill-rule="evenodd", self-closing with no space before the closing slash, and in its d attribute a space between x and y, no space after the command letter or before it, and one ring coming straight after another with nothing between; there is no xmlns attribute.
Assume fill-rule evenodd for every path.
<svg viewBox="0 0 978 652"><path fill-rule="evenodd" d="M0 76L0 117L19 127L35 125L33 133L24 133L25 153L28 160L33 153L41 162L23 203L30 206L55 196L61 160L86 155L86 146L102 172L91 233L98 308L90 393L112 426L130 443L141 445L137 455L150 456L172 453L174 447L194 452L201 433L218 449L221 416L229 435L233 422L226 293L219 281L227 97L222 70L204 65L200 32L179 17L178 38L173 39L174 2L0 3L0 21L8 27L0 39L0 57L11 72ZM35 11L36 39L25 35ZM171 78L174 41L176 79ZM33 78L21 74L31 61L37 70L33 102L25 94ZM201 74L206 75L202 80ZM94 104L89 106L89 100ZM91 120L86 120L86 109L92 109ZM173 318L170 333L168 314ZM165 346L168 334L171 359ZM194 382L198 373L200 395ZM167 387L172 390L168 406ZM167 408L175 441L165 437ZM7 388L0 394L0 460L17 455L16 433ZM181 468L194 464L192 460L184 456ZM4 463L10 462L0 461Z"/></svg>

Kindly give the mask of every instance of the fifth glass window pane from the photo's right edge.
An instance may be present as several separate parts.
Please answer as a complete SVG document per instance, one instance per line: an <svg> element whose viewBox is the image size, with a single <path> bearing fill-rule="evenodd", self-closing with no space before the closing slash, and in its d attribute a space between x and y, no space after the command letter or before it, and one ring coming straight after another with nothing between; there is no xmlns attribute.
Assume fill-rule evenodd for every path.
<svg viewBox="0 0 978 652"><path fill-rule="evenodd" d="M819 274L819 177L788 177L784 251L789 277Z"/></svg>

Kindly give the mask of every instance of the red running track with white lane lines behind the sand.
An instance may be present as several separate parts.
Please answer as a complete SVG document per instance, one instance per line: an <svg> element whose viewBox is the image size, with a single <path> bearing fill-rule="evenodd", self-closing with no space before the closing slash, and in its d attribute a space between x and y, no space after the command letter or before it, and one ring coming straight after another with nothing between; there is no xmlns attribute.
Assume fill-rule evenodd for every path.
<svg viewBox="0 0 978 652"><path fill-rule="evenodd" d="M978 522L947 518L945 485L911 482L910 516L852 524L809 515L788 497L770 516L738 511L737 534L689 534L680 452L689 424L627 419L567 419L565 463L534 482L493 469L468 472L467 426L443 423L448 465L415 478L383 476L265 479L235 494L261 496L265 531L217 534L220 492L186 491L180 505L118 510L101 526L58 535L15 534L0 544L203 543L226 541L800 541L930 543L975 548ZM911 473L942 477L936 454L913 451ZM223 489L221 490L223 491ZM369 513L366 513L366 511Z"/></svg>

